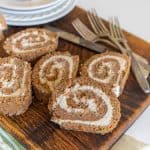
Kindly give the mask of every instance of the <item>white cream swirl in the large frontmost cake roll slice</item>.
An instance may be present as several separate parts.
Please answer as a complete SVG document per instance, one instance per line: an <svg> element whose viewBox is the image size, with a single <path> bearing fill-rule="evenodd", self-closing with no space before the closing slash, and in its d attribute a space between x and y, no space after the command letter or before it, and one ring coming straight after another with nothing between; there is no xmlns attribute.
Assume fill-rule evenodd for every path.
<svg viewBox="0 0 150 150"><path fill-rule="evenodd" d="M94 98L85 99L84 97L82 99L78 99L76 94L78 91L91 91L93 92L97 97L99 97L104 105L107 107L107 111L104 114L104 116L96 121L83 121L83 120L70 120L70 119L52 119L53 122L62 124L62 123L75 123L75 124L82 124L82 125L92 125L92 126L107 126L110 124L112 117L113 117L113 107L111 105L110 97L106 95L101 89L98 89L93 86L89 85L80 85L77 83L75 86L66 89L64 94L60 95L56 102L53 104L53 109L55 109L57 106L59 106L61 109L65 110L67 113L83 113L85 109L83 108L72 108L67 104L68 93L72 93L73 97L72 100L78 104L79 102L84 103L86 106L88 106L89 111L91 112L97 112L98 108L97 104L94 100Z"/></svg>

